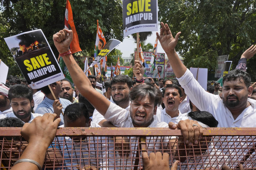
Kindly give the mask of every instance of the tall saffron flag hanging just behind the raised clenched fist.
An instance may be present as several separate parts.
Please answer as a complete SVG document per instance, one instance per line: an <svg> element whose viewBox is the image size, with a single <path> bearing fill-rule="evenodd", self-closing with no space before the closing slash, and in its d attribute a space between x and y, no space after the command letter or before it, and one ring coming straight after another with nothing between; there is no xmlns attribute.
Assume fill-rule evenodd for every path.
<svg viewBox="0 0 256 170"><path fill-rule="evenodd" d="M74 24L72 9L71 9L69 0L67 0L66 11L65 11L65 29L72 29L73 31L73 40L71 41L71 44L70 44L71 53L73 54L75 52L82 51L79 46L78 35L77 35L77 31L75 30L75 24Z"/></svg>

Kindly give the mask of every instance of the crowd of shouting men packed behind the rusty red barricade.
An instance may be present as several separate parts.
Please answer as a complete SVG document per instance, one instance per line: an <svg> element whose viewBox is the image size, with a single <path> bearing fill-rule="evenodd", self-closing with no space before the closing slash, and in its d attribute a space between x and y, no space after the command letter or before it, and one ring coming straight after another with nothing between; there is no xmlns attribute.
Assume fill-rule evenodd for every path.
<svg viewBox="0 0 256 170"><path fill-rule="evenodd" d="M167 24L161 23L161 26L160 35L157 33L157 37L171 61L169 63L177 77L176 81L160 78L158 82L154 82L152 78L147 78L149 82L145 83L144 67L139 61L135 61L134 82L126 75L117 75L110 80L105 78L106 94L103 95L97 88L100 87L97 86L99 77L94 75L87 77L69 54L62 58L71 77L76 77L73 79L74 89L67 80L50 84L53 93L48 86L31 89L24 79L13 76L7 77L6 82L0 84L0 125L21 127L25 123L31 123L37 116L55 113L54 120L60 119L59 127L170 127L172 129L178 127L182 130L183 140L188 146L199 143L203 135L202 127L256 127L254 121L256 84L251 84L250 75L246 72L246 60L256 53L255 46L252 45L247 49L236 69L223 77L223 87L220 83L214 82L213 85L209 83L205 91L175 52L180 32L174 38ZM72 31L63 29L53 35L53 40L59 53L66 53L69 51ZM54 100L54 96L57 100ZM95 137L65 138L67 142L85 139L97 140ZM64 137L58 140L63 141ZM115 140L118 140L118 137ZM130 147L136 147L135 139L130 138L130 140L134 144ZM158 142L159 138L154 140L156 143L161 143ZM167 141L164 142L166 144L169 140L174 140L175 143L178 139L173 137L163 139ZM149 150L161 151L161 147L167 146L148 145L147 147ZM179 147L181 146L173 146L173 149ZM60 146L59 150L60 153L64 150L71 151L72 145ZM88 152L88 150L82 152L86 151ZM223 152L227 151L223 150ZM68 152L62 154L64 158L70 155ZM106 155L106 153L101 154ZM136 152L130 154L135 157ZM175 156L176 153L171 154ZM235 152L229 151L229 154ZM75 159L79 157L79 155L73 156ZM95 155L91 156L95 158ZM215 159L215 162L221 159L232 158L222 156ZM71 165L71 159L68 161L65 163ZM119 164L121 162L123 161L119 160ZM113 160L92 164L97 163L102 166L114 164ZM134 162L130 161L126 164L134 164Z"/></svg>

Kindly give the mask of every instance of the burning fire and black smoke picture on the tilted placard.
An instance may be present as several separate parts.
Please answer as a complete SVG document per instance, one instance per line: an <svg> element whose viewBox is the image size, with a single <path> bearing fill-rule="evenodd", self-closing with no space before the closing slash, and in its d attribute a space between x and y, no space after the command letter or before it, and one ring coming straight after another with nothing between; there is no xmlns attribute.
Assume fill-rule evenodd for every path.
<svg viewBox="0 0 256 170"><path fill-rule="evenodd" d="M47 46L44 37L41 34L37 34L37 32L34 33L35 34L27 33L16 37L20 42L19 50L16 50L15 57Z"/></svg>

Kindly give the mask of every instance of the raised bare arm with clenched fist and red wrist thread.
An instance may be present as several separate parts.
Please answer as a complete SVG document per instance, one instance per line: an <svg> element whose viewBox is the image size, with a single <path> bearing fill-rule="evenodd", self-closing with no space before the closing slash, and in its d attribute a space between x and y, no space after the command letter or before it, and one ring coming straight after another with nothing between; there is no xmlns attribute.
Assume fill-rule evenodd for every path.
<svg viewBox="0 0 256 170"><path fill-rule="evenodd" d="M67 35L69 34L69 35ZM53 35L54 45L60 54L69 51L69 45L73 39L72 30L63 29ZM81 95L84 96L99 113L105 115L110 101L105 96L98 93L92 86L90 80L83 73L83 70L78 66L77 62L71 54L62 56L67 69L72 77L75 86L80 91Z"/></svg>

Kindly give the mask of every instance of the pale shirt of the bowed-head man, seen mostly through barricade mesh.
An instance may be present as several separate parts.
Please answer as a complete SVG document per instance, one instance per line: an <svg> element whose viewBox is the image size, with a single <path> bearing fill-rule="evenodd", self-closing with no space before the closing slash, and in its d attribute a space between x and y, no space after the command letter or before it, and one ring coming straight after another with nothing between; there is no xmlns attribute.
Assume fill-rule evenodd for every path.
<svg viewBox="0 0 256 170"><path fill-rule="evenodd" d="M64 127L61 125L59 127ZM99 128L100 126L95 122L91 121L90 128ZM71 159L72 159L72 168L78 169L78 167L88 167L89 161L91 166L103 166L106 167L106 141L105 137L89 137L87 136L82 140L81 145L80 142L76 143L68 136L65 137L57 137L53 141L53 145L60 148L60 152L64 157L64 166L69 169L71 167ZM65 142L63 142L65 141ZM97 144L98 143L98 144ZM113 141L111 141L113 143ZM64 149L63 149L64 148ZM81 149L80 149L81 148ZM111 148L113 150L113 148ZM82 156L80 156L80 154ZM71 157L72 155L72 157ZM98 163L97 163L98 158ZM108 162L107 162L108 163ZM111 162L113 164L113 162ZM110 164L111 164L110 163ZM106 169L106 168L100 168Z"/></svg>

